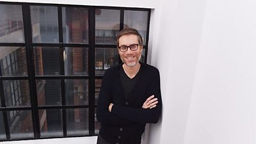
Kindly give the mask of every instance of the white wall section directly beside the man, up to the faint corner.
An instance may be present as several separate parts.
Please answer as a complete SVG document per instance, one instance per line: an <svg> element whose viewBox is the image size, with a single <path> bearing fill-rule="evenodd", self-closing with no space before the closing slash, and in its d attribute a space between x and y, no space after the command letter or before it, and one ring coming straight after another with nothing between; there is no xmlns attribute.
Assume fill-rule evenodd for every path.
<svg viewBox="0 0 256 144"><path fill-rule="evenodd" d="M150 36L152 64L161 72L163 120L160 128L151 127L150 144L184 143L204 9L204 0L163 0L159 7L158 35Z"/></svg>

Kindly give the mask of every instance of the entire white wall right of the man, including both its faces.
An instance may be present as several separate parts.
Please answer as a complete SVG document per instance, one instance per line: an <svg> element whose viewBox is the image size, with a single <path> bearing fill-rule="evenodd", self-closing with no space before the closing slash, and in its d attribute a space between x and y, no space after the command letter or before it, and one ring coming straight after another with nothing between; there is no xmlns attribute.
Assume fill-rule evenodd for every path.
<svg viewBox="0 0 256 144"><path fill-rule="evenodd" d="M159 8L151 61L164 109L149 144L255 144L256 1L163 0Z"/></svg>

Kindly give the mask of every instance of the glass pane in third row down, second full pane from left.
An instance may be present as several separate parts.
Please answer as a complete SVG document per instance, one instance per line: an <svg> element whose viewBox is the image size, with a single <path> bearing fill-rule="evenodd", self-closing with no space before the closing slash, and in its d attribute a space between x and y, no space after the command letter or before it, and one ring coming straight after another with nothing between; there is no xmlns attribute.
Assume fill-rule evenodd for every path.
<svg viewBox="0 0 256 144"><path fill-rule="evenodd" d="M61 105L61 81L36 80L38 106Z"/></svg>

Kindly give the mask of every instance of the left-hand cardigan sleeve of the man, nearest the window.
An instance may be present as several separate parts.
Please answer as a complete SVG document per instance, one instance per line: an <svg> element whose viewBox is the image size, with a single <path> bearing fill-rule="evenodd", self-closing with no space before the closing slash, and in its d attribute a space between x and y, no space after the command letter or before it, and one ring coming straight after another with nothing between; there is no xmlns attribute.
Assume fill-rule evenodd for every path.
<svg viewBox="0 0 256 144"><path fill-rule="evenodd" d="M110 84L111 79L107 70L102 78L97 105L97 120L106 124L130 124L131 121L109 112L108 107L112 101Z"/></svg>

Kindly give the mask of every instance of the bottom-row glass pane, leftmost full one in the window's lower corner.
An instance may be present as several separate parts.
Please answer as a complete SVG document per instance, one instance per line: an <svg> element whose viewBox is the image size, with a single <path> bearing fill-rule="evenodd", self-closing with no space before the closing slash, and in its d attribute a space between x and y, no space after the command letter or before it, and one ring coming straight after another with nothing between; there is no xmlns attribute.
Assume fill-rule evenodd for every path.
<svg viewBox="0 0 256 144"><path fill-rule="evenodd" d="M11 139L33 138L31 111L7 111Z"/></svg>

